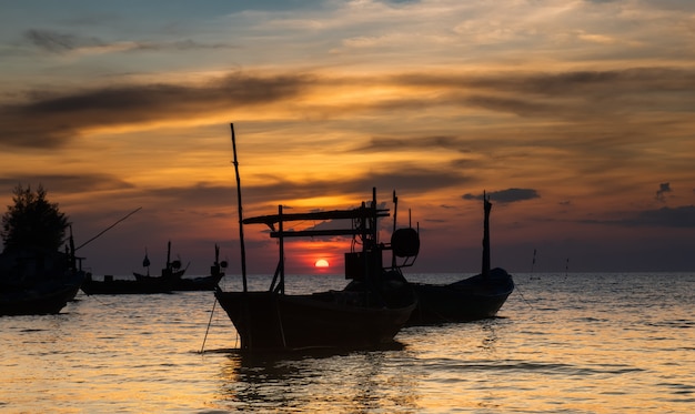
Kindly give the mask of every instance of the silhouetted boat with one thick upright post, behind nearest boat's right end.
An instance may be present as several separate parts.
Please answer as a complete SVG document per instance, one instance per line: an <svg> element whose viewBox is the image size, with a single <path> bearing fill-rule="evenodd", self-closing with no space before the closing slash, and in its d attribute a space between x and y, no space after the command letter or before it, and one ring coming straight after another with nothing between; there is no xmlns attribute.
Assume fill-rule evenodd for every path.
<svg viewBox="0 0 695 414"><path fill-rule="evenodd" d="M490 269L490 211L485 195L483 269L480 274L450 283L411 283L417 294L417 307L409 325L467 322L494 317L514 291L512 276L501 267Z"/></svg>

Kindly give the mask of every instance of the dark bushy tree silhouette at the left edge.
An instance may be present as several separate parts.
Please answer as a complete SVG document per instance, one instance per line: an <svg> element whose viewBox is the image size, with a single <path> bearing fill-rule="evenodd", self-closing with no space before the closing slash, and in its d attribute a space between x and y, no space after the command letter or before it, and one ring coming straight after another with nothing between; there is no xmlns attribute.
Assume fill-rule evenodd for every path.
<svg viewBox="0 0 695 414"><path fill-rule="evenodd" d="M18 184L13 191L14 205L2 215L4 252L24 248L59 250L66 239L69 222L58 203L50 203L41 184L36 192Z"/></svg>

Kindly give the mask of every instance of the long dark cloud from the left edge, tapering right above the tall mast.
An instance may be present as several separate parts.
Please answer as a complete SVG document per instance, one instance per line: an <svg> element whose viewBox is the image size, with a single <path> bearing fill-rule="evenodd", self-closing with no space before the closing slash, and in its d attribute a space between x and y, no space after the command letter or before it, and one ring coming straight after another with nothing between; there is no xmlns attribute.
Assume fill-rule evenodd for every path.
<svg viewBox="0 0 695 414"><path fill-rule="evenodd" d="M302 74L232 73L207 84L125 84L83 91L38 91L24 103L0 105L0 145L60 148L84 130L209 115L289 100L310 87ZM37 121L38 120L38 121Z"/></svg>

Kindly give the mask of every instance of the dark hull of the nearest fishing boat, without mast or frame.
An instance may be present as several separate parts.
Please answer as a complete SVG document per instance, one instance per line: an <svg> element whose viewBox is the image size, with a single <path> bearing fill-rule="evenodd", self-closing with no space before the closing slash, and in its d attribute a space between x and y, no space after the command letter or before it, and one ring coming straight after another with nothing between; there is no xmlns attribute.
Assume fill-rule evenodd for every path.
<svg viewBox="0 0 695 414"><path fill-rule="evenodd" d="M396 309L354 305L350 292L218 290L215 297L236 327L242 350L376 347L393 342L415 307L414 302Z"/></svg>

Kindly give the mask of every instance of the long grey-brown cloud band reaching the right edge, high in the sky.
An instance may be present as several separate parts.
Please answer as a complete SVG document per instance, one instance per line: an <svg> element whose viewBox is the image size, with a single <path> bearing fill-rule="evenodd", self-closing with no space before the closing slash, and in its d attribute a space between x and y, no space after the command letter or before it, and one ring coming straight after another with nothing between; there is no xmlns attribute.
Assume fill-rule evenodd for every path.
<svg viewBox="0 0 695 414"><path fill-rule="evenodd" d="M580 119L586 114L611 118L631 111L656 111L664 104L683 110L695 98L695 71L678 68L627 68L557 73L520 72L470 74L406 73L395 82L429 90L445 90L440 100L525 117ZM655 101L645 101L648 93ZM672 94L675 100L667 100Z"/></svg>

